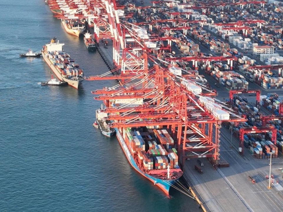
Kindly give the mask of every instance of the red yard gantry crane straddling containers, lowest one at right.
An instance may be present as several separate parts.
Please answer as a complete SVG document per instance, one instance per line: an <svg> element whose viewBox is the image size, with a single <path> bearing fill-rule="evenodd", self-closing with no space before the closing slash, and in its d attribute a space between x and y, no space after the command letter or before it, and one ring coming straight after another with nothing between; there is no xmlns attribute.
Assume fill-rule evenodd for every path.
<svg viewBox="0 0 283 212"><path fill-rule="evenodd" d="M247 127L247 128L241 128L239 130L239 140L240 140L240 148L242 148L241 155L243 155L243 147L244 147L244 135L248 133L266 133L266 132L272 132L272 138L271 141L276 145L276 138L277 138L277 129L274 126L268 126L268 127Z"/></svg>

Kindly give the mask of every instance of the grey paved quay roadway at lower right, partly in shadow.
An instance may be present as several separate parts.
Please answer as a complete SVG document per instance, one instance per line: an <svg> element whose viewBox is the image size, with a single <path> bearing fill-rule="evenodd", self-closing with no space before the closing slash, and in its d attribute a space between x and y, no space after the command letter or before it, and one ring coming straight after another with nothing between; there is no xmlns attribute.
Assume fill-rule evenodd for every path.
<svg viewBox="0 0 283 212"><path fill-rule="evenodd" d="M205 158L201 158L203 174L194 169L194 165L198 165L197 159L186 161L184 166L184 174L209 210L282 211L283 179L281 170L277 170L283 168L281 156L272 159L272 174L279 185L268 189L269 181L265 176L269 174L270 160L255 159L247 148L241 156L238 153L239 140L233 136L231 143L231 132L225 127L221 128L220 140L221 159L226 160L230 167L215 170ZM256 183L251 183L248 176L252 176Z"/></svg>

